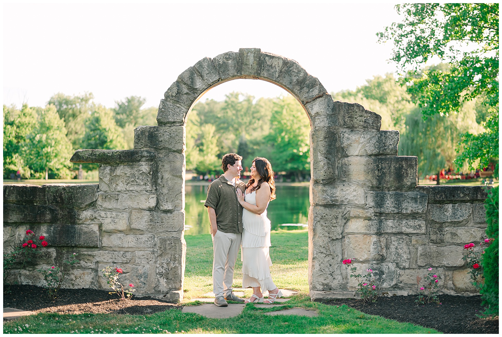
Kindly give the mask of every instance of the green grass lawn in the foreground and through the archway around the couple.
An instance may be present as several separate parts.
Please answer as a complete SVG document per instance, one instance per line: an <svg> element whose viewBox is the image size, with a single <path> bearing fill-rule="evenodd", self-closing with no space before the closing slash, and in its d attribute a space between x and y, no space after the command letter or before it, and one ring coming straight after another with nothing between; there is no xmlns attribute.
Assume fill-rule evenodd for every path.
<svg viewBox="0 0 502 337"><path fill-rule="evenodd" d="M212 291L212 242L209 235L187 236L185 297L197 298ZM236 317L206 318L171 309L151 315L42 313L4 322L4 333L437 333L411 323L373 316L346 305L311 302L308 297L307 231L274 231L270 255L274 282L280 288L294 289L285 306L256 308L247 304ZM241 286L240 255L234 286ZM246 291L247 297L251 294ZM185 302L187 300L185 299ZM197 305L200 302L192 302ZM319 316L264 315L264 312L293 307L317 310Z"/></svg>

